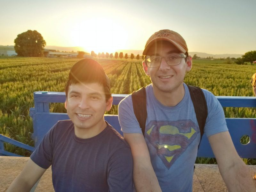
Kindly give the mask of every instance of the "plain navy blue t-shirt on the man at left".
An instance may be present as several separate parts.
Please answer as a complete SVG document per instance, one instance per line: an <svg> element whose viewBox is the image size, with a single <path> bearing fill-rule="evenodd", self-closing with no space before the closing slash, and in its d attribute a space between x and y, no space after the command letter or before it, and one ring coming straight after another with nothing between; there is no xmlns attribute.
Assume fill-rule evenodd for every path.
<svg viewBox="0 0 256 192"><path fill-rule="evenodd" d="M59 121L30 156L47 169L52 165L55 191L132 191L132 154L109 124L100 134L76 137L71 120Z"/></svg>

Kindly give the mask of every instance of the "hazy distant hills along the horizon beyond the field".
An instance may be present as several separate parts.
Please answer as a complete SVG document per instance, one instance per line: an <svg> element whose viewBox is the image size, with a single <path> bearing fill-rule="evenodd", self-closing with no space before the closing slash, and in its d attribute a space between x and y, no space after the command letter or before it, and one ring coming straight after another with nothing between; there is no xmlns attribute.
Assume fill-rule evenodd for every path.
<svg viewBox="0 0 256 192"><path fill-rule="evenodd" d="M9 47L9 48L13 48L13 45L10 46L3 46L0 45L0 47ZM62 51L67 51L67 52L77 52L77 51L84 51L83 47L60 47L60 46L45 46L45 49L54 49L54 50L59 50L60 52ZM92 50L93 51L93 50ZM127 53L128 55L131 55L131 53L133 53L136 57L137 54L142 55L143 50L116 50L116 52L123 52L124 54ZM91 52L89 52L91 53ZM109 52L110 53L110 52ZM113 54L115 54L115 52L113 52ZM189 55L191 55L192 57L194 55L197 55L198 57L201 58L206 58L206 57L213 57L215 59L217 58L227 58L227 57L241 57L243 54L208 54L208 53L202 53L202 52L189 52Z"/></svg>

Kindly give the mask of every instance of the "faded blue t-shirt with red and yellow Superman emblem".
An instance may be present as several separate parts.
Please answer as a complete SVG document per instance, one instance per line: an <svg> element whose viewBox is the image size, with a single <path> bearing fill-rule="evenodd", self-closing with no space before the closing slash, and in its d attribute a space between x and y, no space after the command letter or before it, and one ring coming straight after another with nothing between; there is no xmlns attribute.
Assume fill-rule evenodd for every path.
<svg viewBox="0 0 256 192"><path fill-rule="evenodd" d="M146 87L147 112L144 137L151 163L163 192L192 191L200 129L188 87L174 107L162 105L153 93L152 84ZM204 127L207 137L228 131L223 109L216 97L204 90L208 116ZM118 107L118 118L124 133L142 133L134 115L132 97L128 95Z"/></svg>

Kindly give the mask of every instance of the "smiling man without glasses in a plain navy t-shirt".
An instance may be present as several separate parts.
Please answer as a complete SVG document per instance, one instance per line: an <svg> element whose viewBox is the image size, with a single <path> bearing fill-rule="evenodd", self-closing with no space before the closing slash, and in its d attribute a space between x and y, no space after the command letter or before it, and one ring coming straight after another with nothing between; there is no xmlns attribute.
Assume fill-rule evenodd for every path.
<svg viewBox="0 0 256 192"><path fill-rule="evenodd" d="M92 59L78 61L65 88L68 116L44 136L7 191L29 191L52 165L55 191L132 191L129 145L104 120L113 98L108 76Z"/></svg>

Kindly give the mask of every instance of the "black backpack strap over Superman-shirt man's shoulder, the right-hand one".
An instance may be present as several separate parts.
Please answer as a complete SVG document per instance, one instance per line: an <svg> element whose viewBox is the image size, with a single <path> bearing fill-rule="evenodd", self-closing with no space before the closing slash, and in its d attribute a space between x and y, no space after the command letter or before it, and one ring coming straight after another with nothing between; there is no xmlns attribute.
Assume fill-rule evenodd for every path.
<svg viewBox="0 0 256 192"><path fill-rule="evenodd" d="M187 85L187 86L188 86L190 97L196 112L196 119L197 119L197 123L201 133L201 139L202 139L202 136L204 134L204 125L208 115L206 100L204 97L204 93L200 87L191 86L191 85ZM200 142L201 142L201 139L200 139ZM198 145L198 148L199 148L199 145Z"/></svg>

